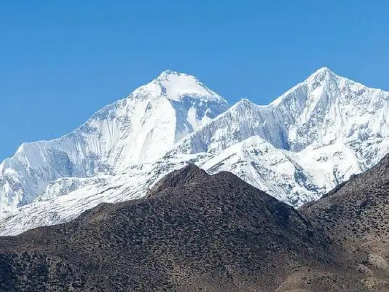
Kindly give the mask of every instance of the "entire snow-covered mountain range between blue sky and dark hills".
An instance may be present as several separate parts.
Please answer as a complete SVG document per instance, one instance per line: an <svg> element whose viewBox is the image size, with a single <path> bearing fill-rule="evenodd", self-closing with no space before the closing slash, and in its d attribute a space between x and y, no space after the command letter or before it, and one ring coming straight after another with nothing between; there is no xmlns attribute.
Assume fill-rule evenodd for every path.
<svg viewBox="0 0 389 292"><path fill-rule="evenodd" d="M230 109L195 77L167 71L73 133L24 144L5 160L0 234L140 198L189 161L300 206L388 152L389 92L327 68L269 105L243 99Z"/></svg>

